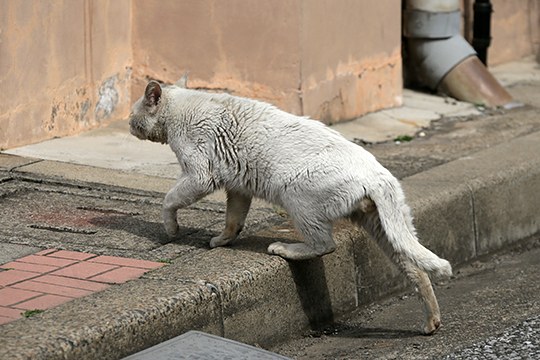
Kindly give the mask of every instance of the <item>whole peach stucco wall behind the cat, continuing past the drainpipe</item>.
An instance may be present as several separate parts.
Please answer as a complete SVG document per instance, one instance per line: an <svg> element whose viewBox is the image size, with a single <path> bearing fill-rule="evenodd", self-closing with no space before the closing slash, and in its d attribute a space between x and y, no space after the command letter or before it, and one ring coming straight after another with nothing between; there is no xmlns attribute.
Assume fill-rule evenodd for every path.
<svg viewBox="0 0 540 360"><path fill-rule="evenodd" d="M538 54L540 1L492 2L490 65ZM0 0L0 149L124 118L186 70L327 123L396 106L400 24L397 0Z"/></svg>

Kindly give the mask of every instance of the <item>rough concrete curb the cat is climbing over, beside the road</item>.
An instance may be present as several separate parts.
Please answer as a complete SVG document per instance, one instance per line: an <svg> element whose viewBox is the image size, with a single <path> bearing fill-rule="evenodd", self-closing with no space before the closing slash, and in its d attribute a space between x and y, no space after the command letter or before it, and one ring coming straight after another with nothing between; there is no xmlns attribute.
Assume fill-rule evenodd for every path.
<svg viewBox="0 0 540 360"><path fill-rule="evenodd" d="M536 132L405 178L422 242L456 266L538 232L539 153ZM101 178L120 187L153 181L131 174L116 180L111 170L84 167L62 175L60 168L73 165L5 155L0 160L13 163L0 169L25 178ZM103 178L105 172L111 173ZM141 187L133 188L146 190ZM334 254L299 263L264 253L278 237L294 240L293 233L278 230L264 229L232 248L196 253L139 280L3 325L0 357L117 359L192 329L266 347L407 286L363 231L348 223L336 224Z"/></svg>

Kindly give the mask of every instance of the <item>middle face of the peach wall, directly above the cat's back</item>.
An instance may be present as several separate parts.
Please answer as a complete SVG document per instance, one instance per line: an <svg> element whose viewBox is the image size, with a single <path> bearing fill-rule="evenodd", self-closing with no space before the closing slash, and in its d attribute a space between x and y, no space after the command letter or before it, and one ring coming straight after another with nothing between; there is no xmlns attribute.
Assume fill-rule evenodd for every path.
<svg viewBox="0 0 540 360"><path fill-rule="evenodd" d="M140 1L133 9L135 96L147 78L225 90L301 112L297 0Z"/></svg>

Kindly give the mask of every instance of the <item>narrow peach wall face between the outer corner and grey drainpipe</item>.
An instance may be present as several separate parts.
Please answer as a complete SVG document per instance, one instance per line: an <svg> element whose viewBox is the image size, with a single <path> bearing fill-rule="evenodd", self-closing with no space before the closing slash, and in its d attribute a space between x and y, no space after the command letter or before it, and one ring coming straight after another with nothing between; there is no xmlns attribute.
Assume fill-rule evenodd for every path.
<svg viewBox="0 0 540 360"><path fill-rule="evenodd" d="M303 1L303 112L335 122L401 105L399 1Z"/></svg>

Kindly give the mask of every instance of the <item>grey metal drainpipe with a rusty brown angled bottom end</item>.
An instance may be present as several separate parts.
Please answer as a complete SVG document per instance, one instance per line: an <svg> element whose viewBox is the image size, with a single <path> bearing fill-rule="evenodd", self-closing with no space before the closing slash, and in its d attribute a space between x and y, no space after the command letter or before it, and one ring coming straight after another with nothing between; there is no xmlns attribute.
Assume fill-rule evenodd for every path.
<svg viewBox="0 0 540 360"><path fill-rule="evenodd" d="M487 107L513 106L512 97L461 36L460 0L405 0L408 61L421 84Z"/></svg>

